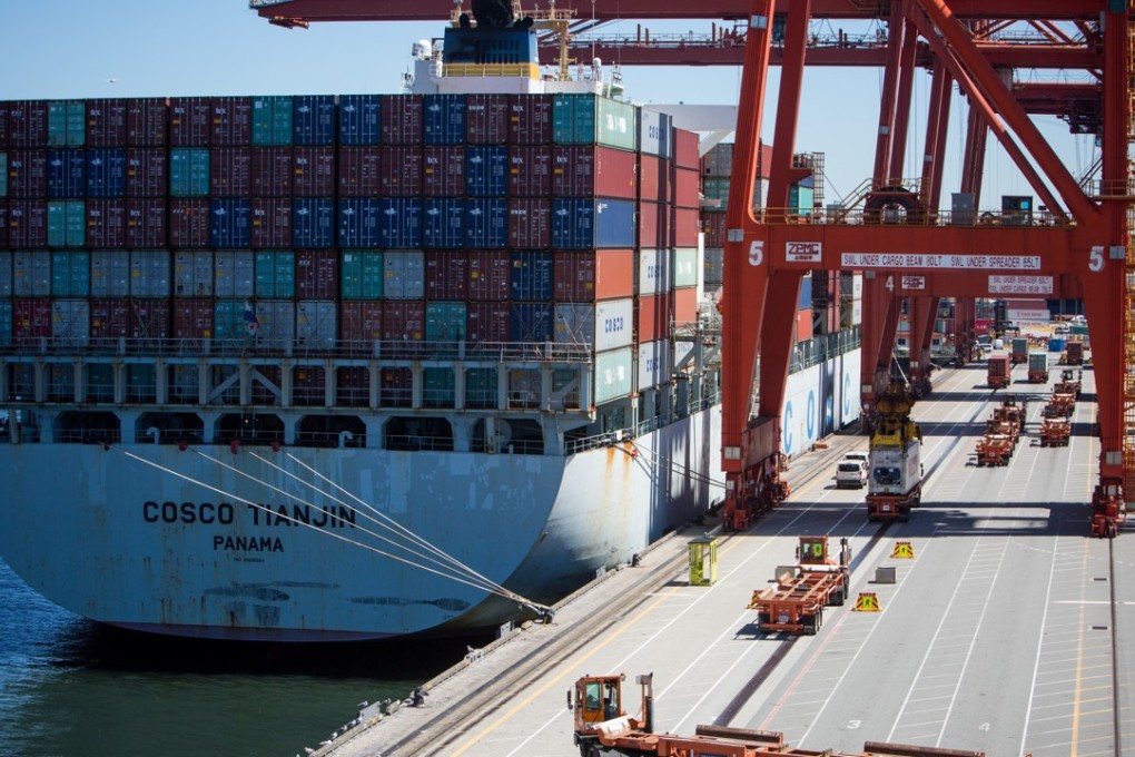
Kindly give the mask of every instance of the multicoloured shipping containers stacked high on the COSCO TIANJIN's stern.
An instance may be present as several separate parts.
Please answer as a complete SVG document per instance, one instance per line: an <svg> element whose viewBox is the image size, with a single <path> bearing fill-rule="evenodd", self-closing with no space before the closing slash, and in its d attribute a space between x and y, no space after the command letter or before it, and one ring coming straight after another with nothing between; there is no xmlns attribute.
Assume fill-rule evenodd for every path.
<svg viewBox="0 0 1135 757"><path fill-rule="evenodd" d="M673 328L697 318L697 138L597 95L10 101L0 163L3 347L578 344L599 405L669 381ZM74 395L60 365L49 394ZM325 401L320 367L258 370ZM132 371L152 399L153 368ZM497 406L498 371L464 373L464 406ZM411 403L410 368L378 380L381 404ZM539 371L507 380L539 395ZM171 396L197 385L177 367ZM334 386L358 404L371 378L340 367ZM423 406L456 395L452 368L426 369Z"/></svg>

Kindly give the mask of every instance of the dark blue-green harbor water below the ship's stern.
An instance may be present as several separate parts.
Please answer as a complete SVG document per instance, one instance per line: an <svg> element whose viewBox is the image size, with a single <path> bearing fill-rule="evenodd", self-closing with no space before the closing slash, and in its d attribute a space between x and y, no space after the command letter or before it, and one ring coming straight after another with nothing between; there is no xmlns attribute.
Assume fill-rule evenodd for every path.
<svg viewBox="0 0 1135 757"><path fill-rule="evenodd" d="M246 645L99 625L0 561L0 755L291 757L486 639Z"/></svg>

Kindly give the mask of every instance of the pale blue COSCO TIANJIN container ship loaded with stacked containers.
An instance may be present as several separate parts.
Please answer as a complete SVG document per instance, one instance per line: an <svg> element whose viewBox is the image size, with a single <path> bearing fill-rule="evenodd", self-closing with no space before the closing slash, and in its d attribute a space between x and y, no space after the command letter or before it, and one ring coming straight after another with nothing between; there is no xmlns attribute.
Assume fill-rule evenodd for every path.
<svg viewBox="0 0 1135 757"><path fill-rule="evenodd" d="M415 48L401 94L0 103L0 557L43 596L462 633L721 498L698 136L511 19ZM838 286L790 454L858 414Z"/></svg>

